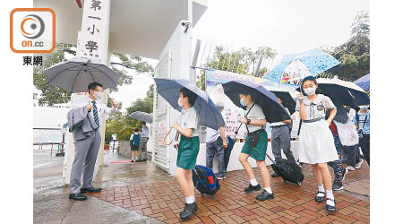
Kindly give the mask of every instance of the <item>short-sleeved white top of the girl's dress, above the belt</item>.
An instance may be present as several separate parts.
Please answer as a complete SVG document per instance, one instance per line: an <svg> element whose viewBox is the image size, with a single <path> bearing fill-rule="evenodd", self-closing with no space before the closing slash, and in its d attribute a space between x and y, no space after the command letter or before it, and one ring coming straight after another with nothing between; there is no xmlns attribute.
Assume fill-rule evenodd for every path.
<svg viewBox="0 0 403 224"><path fill-rule="evenodd" d="M304 96L304 105L306 106L307 120L315 119L321 116L326 116L326 110L336 108L331 99L323 94L318 94L313 101ZM296 111L299 111L300 102L296 100Z"/></svg>

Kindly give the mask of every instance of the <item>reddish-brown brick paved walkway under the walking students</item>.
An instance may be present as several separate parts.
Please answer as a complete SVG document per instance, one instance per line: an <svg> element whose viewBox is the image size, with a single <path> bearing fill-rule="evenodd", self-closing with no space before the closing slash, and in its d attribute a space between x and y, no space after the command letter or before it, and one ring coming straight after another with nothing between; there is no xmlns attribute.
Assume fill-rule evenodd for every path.
<svg viewBox="0 0 403 224"><path fill-rule="evenodd" d="M275 198L265 202L254 199L258 193L244 193L249 184L244 170L228 172L227 179L220 181L221 190L214 199L196 191L199 210L192 220L184 223L369 223L369 202L343 191L335 193L338 211L334 215L324 209L324 202L314 202L317 188L310 167L304 165L305 180L300 187L285 184L280 177L271 178ZM253 171L262 184L259 170ZM366 163L363 168L349 172L345 182L349 188L364 187L369 192L368 185L356 184L360 180L369 185ZM166 223L180 222L179 212L184 208L184 196L175 180L107 188L90 195Z"/></svg>

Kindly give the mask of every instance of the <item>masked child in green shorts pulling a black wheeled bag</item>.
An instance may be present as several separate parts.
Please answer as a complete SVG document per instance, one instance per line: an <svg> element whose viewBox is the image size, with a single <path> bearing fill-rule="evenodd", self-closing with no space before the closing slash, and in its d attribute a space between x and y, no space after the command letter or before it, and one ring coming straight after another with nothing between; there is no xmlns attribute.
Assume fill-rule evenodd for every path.
<svg viewBox="0 0 403 224"><path fill-rule="evenodd" d="M270 174L264 162L267 151L266 116L264 116L262 107L253 101L251 92L244 90L239 94L239 98L241 105L246 107L245 117L242 118L241 122L246 125L248 132L238 158L250 180L250 184L244 188L244 192L249 194L262 188L254 177L253 169L248 162L248 158L252 157L256 159L256 164L261 171L264 183L264 190L262 194L256 196L256 199L259 201L273 199L274 194L270 187Z"/></svg>

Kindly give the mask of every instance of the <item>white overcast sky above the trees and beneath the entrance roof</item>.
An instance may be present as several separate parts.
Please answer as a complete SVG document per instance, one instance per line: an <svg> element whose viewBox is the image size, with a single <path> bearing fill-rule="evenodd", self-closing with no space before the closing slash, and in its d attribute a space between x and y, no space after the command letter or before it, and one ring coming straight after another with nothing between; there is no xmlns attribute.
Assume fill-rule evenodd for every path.
<svg viewBox="0 0 403 224"><path fill-rule="evenodd" d="M235 48L269 46L279 53L274 60L278 63L285 54L344 43L361 10L369 10L369 0L210 0L193 36ZM155 60L148 61L157 64ZM131 73L133 84L111 94L123 102L124 108L144 98L152 83L147 75Z"/></svg>

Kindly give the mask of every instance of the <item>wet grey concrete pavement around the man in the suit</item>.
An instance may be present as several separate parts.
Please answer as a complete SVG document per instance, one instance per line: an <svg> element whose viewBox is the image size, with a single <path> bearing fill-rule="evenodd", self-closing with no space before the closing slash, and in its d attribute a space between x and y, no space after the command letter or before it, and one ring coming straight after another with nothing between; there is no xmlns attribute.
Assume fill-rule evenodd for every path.
<svg viewBox="0 0 403 224"><path fill-rule="evenodd" d="M105 166L99 169L93 185L110 187L133 185L134 181L147 183L172 179L151 163L110 164L110 161L123 159L116 152L106 152ZM161 223L90 195L83 202L69 200L69 189L64 185L62 171L64 157L50 157L49 153L34 152L33 161L33 223Z"/></svg>

